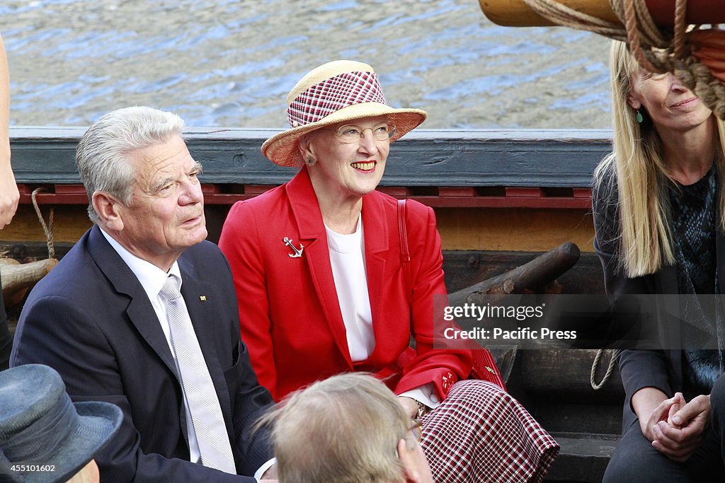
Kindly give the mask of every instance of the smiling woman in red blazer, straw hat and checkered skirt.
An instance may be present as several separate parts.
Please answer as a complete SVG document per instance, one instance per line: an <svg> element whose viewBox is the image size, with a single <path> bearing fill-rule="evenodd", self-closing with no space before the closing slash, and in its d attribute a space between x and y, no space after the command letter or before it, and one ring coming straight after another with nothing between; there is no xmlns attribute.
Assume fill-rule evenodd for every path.
<svg viewBox="0 0 725 483"><path fill-rule="evenodd" d="M302 169L236 203L219 243L262 385L279 400L333 374L372 371L422 417L436 482L543 479L556 442L501 387L466 380L470 350L434 348L434 295L446 288L433 210L407 202L406 283L398 203L375 190L390 143L426 113L388 106L373 69L351 61L309 72L288 106L291 129L262 152Z"/></svg>

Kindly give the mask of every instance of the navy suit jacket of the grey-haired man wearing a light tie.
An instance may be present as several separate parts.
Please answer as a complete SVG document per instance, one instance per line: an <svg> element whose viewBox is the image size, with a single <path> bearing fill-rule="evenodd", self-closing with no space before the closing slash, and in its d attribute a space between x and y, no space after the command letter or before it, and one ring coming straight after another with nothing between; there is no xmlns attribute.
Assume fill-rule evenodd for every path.
<svg viewBox="0 0 725 483"><path fill-rule="evenodd" d="M252 434L272 399L239 340L231 272L213 243L178 259L181 293L217 392L239 474L272 456L268 434ZM94 226L36 285L20 316L12 366L47 364L74 401L123 410L123 424L96 458L102 481L254 482L189 462L183 393L148 295Z"/></svg>

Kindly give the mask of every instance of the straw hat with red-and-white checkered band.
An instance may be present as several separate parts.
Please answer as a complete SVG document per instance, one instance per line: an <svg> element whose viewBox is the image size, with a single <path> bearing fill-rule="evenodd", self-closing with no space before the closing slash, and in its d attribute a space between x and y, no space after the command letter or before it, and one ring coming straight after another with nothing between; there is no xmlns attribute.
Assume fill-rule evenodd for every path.
<svg viewBox="0 0 725 483"><path fill-rule="evenodd" d="M290 129L262 144L262 154L280 166L301 166L299 139L338 122L387 116L397 140L426 120L420 109L394 109L385 102L378 75L363 62L336 60L302 77L287 96Z"/></svg>

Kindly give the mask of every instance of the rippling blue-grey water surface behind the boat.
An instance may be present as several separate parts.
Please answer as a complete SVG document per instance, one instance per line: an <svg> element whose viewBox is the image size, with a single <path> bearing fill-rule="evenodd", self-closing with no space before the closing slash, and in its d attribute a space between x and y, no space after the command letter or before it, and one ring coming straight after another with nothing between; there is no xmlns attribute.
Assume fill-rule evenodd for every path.
<svg viewBox="0 0 725 483"><path fill-rule="evenodd" d="M143 104L191 126L283 127L318 64L371 64L424 127L608 127L608 41L505 28L476 0L4 0L12 124Z"/></svg>

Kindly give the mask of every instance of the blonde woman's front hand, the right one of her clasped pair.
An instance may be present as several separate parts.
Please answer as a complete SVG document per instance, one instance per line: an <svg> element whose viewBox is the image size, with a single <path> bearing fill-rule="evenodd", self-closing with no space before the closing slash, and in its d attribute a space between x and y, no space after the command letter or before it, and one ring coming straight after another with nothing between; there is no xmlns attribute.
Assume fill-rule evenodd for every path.
<svg viewBox="0 0 725 483"><path fill-rule="evenodd" d="M682 398L679 392L675 395ZM703 442L703 434L710 420L710 396L699 395L682 404L671 413L667 421L659 421L653 427L655 449L674 461L687 461Z"/></svg>

